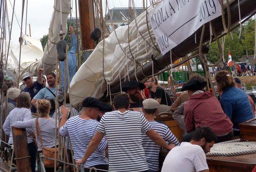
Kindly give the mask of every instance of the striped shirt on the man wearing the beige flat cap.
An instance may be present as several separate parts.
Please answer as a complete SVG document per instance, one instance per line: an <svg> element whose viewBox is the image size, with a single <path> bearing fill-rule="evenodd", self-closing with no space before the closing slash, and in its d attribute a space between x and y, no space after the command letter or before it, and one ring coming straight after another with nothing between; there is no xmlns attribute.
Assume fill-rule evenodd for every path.
<svg viewBox="0 0 256 172"><path fill-rule="evenodd" d="M167 125L157 121L148 121L152 128L169 144L180 145L177 138L173 135ZM146 155L146 162L151 171L158 171L159 166L159 151L160 147L152 141L147 135L142 135L142 146Z"/></svg>

